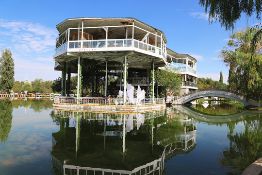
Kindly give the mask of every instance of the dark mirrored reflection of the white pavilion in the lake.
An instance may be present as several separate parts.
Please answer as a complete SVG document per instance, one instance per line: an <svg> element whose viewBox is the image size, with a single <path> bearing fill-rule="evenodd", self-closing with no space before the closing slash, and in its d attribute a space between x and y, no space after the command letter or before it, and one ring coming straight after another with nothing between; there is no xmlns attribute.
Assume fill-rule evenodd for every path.
<svg viewBox="0 0 262 175"><path fill-rule="evenodd" d="M99 113L54 109L53 175L163 175L164 161L196 147L196 122L165 109Z"/></svg>

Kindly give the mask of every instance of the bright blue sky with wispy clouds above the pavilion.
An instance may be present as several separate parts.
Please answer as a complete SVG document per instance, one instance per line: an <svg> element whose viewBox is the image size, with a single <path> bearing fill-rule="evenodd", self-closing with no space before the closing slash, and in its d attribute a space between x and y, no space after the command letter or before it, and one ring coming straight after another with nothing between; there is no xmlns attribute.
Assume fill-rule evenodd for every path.
<svg viewBox="0 0 262 175"><path fill-rule="evenodd" d="M227 83L228 67L218 59L232 31L220 23L209 24L198 0L0 0L0 50L10 48L15 61L15 79L61 77L54 71L55 26L67 18L131 17L159 30L167 47L197 59L198 77L219 80L220 71ZM235 30L258 23L243 15Z"/></svg>

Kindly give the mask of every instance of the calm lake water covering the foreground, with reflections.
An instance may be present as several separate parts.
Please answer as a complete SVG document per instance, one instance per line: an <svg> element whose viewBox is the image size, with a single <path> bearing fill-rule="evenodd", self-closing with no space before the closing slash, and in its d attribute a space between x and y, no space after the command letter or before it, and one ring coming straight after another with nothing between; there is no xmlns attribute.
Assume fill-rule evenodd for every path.
<svg viewBox="0 0 262 175"><path fill-rule="evenodd" d="M241 174L262 157L262 114L209 105L128 114L0 100L0 174Z"/></svg>

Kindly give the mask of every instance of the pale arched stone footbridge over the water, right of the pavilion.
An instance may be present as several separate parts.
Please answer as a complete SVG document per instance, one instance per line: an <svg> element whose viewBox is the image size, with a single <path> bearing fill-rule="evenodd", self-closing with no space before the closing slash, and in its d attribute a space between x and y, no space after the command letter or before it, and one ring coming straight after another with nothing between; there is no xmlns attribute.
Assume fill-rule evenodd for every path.
<svg viewBox="0 0 262 175"><path fill-rule="evenodd" d="M246 97L242 93L231 91L228 89L222 89L222 88L197 89L195 91L186 93L178 97L177 100L174 100L173 105L182 105L199 98L211 97L211 96L229 98L232 100L236 100L240 103L243 103L246 106L257 106L257 107L261 106L261 104L255 100L250 99L246 101Z"/></svg>

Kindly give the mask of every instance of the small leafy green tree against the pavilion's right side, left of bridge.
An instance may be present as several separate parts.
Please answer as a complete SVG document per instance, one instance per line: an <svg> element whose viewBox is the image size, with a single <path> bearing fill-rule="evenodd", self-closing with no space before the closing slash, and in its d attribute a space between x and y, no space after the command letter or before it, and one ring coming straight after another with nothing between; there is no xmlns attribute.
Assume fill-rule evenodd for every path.
<svg viewBox="0 0 262 175"><path fill-rule="evenodd" d="M164 88L164 94L168 88L171 88L176 94L180 93L181 89L181 74L169 68L155 71L156 83Z"/></svg>

